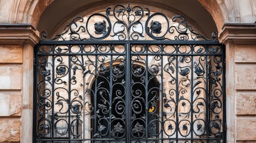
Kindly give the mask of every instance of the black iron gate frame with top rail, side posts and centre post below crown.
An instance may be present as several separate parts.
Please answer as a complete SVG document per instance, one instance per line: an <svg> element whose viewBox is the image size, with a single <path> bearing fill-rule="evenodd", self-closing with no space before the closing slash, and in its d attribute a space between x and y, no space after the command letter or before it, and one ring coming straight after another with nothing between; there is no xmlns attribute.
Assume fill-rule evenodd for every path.
<svg viewBox="0 0 256 143"><path fill-rule="evenodd" d="M227 124L226 124L226 50L225 50L225 46L223 44L220 44L218 41L39 41L38 44L36 44L35 49L38 49L39 46L42 45L90 45L90 44L125 44L125 61L127 62L127 67L125 73L129 73L131 70L131 44L137 44L137 45L220 45L223 49L222 51L222 57L223 57L223 142L226 142L226 132L227 132ZM34 50L34 69L36 69L37 64L36 64L36 55L37 55L37 50ZM58 54L61 55L61 54ZM70 54L72 55L72 54ZM144 55L156 55L156 54L144 54ZM158 54L158 55L163 55L163 54ZM164 55L168 55L168 54L164 54ZM169 55L182 55L182 54L169 54ZM187 54L185 54L187 55ZM192 54L195 55L195 54ZM210 55L210 54L208 54ZM212 54L212 55L216 55L216 54ZM34 70L34 87L37 87L37 70ZM127 74L128 75L128 74ZM125 95L129 95L127 94L128 92L131 92L131 80L130 80L131 76L126 76L125 80L127 82L126 84L126 91L125 91ZM37 125L37 120L36 120L36 99L37 99L37 94L36 94L36 90L34 89L33 91L33 142L36 142L36 125ZM129 105L130 104L130 99L129 96L125 96L125 105ZM130 107L130 106L129 106ZM209 107L207 107L207 111L209 111ZM126 110L125 111L127 116L131 116L130 110ZM161 113L162 114L162 113ZM177 124L177 123L176 123ZM131 139L129 130L131 129L130 127L130 120L127 120L127 126L125 127L125 132L127 132L127 135L125 135L129 141L129 139ZM178 132L178 130L176 130L176 132ZM192 131L193 132L193 131ZM186 138L189 139L189 138ZM209 138L208 138L209 139ZM206 139L208 141L208 139ZM193 140L193 138L191 138L191 140ZM50 140L52 141L52 140ZM178 139L176 139L176 141L178 141ZM211 141L211 140L209 140Z"/></svg>

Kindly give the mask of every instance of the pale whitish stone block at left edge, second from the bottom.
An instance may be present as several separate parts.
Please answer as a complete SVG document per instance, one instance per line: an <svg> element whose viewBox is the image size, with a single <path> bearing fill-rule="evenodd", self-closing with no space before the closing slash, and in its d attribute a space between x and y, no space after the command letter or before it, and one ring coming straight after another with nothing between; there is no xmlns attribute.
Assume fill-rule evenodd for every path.
<svg viewBox="0 0 256 143"><path fill-rule="evenodd" d="M0 116L21 116L20 92L0 91L0 109Z"/></svg>

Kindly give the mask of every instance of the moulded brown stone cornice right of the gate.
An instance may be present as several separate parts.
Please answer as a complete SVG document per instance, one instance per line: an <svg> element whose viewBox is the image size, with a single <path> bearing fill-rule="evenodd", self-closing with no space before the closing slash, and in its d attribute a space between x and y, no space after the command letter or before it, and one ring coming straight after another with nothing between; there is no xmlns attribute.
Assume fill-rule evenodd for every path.
<svg viewBox="0 0 256 143"><path fill-rule="evenodd" d="M219 36L221 43L256 44L256 24L226 23Z"/></svg>

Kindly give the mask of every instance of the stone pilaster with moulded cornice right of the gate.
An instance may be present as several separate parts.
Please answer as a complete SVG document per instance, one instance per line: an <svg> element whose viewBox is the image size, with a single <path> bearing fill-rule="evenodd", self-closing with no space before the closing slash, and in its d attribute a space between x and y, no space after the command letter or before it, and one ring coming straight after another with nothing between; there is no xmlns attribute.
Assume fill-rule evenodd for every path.
<svg viewBox="0 0 256 143"><path fill-rule="evenodd" d="M256 142L256 25L224 24L227 142Z"/></svg>

